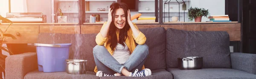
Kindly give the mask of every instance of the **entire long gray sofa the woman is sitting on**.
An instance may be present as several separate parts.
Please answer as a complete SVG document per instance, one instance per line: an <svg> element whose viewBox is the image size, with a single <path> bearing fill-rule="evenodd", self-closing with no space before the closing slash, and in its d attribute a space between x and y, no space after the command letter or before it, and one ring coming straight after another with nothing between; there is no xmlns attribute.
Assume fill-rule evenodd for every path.
<svg viewBox="0 0 256 79"><path fill-rule="evenodd" d="M24 53L6 58L6 79L256 79L256 54L230 53L229 35L225 31L183 31L177 29L140 29L147 40L149 56L145 68L151 76L98 77L93 72L93 47L96 34L41 33L38 43L72 43L70 59L86 59L86 74L66 72L44 73L37 68L36 53ZM177 57L202 56L203 68L180 70Z"/></svg>

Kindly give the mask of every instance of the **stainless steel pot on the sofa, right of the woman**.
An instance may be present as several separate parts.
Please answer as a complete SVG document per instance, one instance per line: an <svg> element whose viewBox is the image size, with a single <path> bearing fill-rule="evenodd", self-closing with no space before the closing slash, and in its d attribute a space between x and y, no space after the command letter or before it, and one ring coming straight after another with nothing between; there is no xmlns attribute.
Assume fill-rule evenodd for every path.
<svg viewBox="0 0 256 79"><path fill-rule="evenodd" d="M178 67L181 70L194 70L203 67L203 57L180 57L178 58Z"/></svg>

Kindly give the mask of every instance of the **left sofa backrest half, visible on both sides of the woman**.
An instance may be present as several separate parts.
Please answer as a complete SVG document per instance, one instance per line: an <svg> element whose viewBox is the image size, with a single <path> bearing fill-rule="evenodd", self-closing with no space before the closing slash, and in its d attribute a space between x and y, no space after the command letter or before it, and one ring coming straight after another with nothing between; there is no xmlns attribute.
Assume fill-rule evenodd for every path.
<svg viewBox="0 0 256 79"><path fill-rule="evenodd" d="M166 30L164 28L144 28L140 31L147 37L145 44L149 47L149 55L144 64L145 68L151 70L166 68ZM96 35L40 33L37 43L72 43L69 59L86 59L88 60L88 71L93 71L96 66L93 58L93 48L97 45L95 42Z"/></svg>

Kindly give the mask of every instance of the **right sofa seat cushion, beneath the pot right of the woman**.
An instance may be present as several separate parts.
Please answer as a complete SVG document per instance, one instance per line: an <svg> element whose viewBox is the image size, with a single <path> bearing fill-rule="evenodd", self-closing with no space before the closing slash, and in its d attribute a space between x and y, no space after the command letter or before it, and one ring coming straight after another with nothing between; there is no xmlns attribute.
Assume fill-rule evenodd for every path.
<svg viewBox="0 0 256 79"><path fill-rule="evenodd" d="M180 70L168 68L174 79L256 79L256 75L230 68L202 68L198 70Z"/></svg>

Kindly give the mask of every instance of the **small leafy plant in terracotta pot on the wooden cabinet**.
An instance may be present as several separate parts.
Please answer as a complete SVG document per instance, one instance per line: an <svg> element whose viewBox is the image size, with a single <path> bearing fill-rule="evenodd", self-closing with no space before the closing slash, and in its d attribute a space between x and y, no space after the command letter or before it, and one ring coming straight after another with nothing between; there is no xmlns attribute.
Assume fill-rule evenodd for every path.
<svg viewBox="0 0 256 79"><path fill-rule="evenodd" d="M190 21L195 19L195 22L201 22L203 16L207 17L209 15L209 11L208 11L208 9L206 10L204 8L190 7L188 9L188 15L189 15Z"/></svg>

